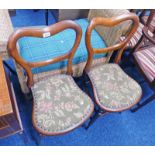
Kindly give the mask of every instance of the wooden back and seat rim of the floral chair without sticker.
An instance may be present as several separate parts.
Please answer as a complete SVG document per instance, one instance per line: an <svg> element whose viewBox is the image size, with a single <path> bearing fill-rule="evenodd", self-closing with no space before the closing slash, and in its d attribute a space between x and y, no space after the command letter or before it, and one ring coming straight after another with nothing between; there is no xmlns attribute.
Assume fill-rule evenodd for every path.
<svg viewBox="0 0 155 155"><path fill-rule="evenodd" d="M97 25L103 25L103 26L110 26L111 27L111 26L115 26L115 25L117 25L121 22L127 21L127 20L132 20L133 25L132 25L132 28L131 28L130 32L128 33L127 37L123 41L116 43L115 45L107 47L107 48L102 48L102 49L93 49L92 48L92 46L91 46L91 32ZM124 50L126 44L128 43L128 41L133 36L134 32L137 30L138 25L139 25L139 19L133 13L121 15L118 17L113 17L111 19L102 18L102 17L97 17L97 18L92 19L90 25L87 28L86 37L85 37L86 47L87 47L87 51L88 51L88 61L87 61L87 64L85 66L84 74L86 73L87 76L89 77L88 73L91 70L91 64L93 62L93 55L94 54L101 54L101 53L107 53L107 52L119 50L117 55L116 55L116 58L114 60L115 63L119 63L121 60L123 50ZM95 87L93 85L93 82L91 81L90 77L89 77L89 79L90 79L90 84L91 84L92 89L93 89L95 102L97 103L97 105L99 105L100 109L104 110L106 113L107 112L120 112L123 110L130 109L132 106L137 104L140 100L140 99L138 99L137 101L135 101L135 103L128 106L127 108L120 108L118 110L107 109L106 107L100 106L100 103L99 103L98 97L96 95L96 90L95 90Z"/></svg>

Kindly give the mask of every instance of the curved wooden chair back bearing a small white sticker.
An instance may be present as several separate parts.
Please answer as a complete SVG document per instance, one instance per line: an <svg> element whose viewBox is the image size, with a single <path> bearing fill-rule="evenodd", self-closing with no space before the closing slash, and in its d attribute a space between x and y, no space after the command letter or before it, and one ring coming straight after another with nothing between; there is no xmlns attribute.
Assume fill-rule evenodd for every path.
<svg viewBox="0 0 155 155"><path fill-rule="evenodd" d="M71 50L59 57L50 59L50 60L46 60L46 61L41 61L41 62L26 62L19 54L18 50L17 50L17 41L22 38L22 37L39 37L39 38L43 38L43 37L49 37L52 35L55 35L65 29L73 29L76 32L76 39L75 42L71 48ZM15 61L25 69L27 75L28 75L28 81L27 84L29 87L31 87L34 83L33 81L33 73L32 73L32 68L34 67L41 67L41 66L46 66L49 64L53 64L65 59L68 59L68 64L67 64L67 74L72 74L72 59L74 56L74 53L76 51L76 49L78 48L80 41L81 41L81 37L82 37L82 29L81 27L76 24L75 22L71 21L71 20L64 20L61 22L58 22L54 25L51 26L47 26L45 28L21 28L18 29L17 31L15 31L9 38L8 41L8 52L10 54L10 56L12 56ZM52 51L51 51L52 52Z"/></svg>

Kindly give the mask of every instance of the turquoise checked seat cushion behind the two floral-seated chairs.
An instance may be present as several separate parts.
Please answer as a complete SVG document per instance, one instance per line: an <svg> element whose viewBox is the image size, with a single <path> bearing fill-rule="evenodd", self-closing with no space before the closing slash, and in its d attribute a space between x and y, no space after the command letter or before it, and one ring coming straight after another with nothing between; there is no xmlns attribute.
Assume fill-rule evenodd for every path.
<svg viewBox="0 0 155 155"><path fill-rule="evenodd" d="M75 22L82 28L82 39L73 58L73 64L79 64L87 60L88 53L85 45L85 32L89 22L87 19L79 19L75 20ZM48 38L23 37L18 41L19 51L22 58L28 62L49 60L69 52L74 44L75 37L76 34L72 29L66 29ZM94 48L106 47L105 42L95 30L92 32L91 41ZM101 58L105 55L100 54L94 58ZM64 68L66 65L67 61L62 61L45 67L34 68L32 71L34 74L41 73Z"/></svg>

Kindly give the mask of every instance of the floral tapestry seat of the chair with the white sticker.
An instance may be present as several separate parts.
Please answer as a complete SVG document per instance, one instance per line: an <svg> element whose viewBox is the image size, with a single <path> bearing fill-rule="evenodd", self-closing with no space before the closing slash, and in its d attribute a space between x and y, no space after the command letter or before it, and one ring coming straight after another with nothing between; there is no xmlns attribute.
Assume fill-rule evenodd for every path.
<svg viewBox="0 0 155 155"><path fill-rule="evenodd" d="M32 87L33 123L42 134L58 135L73 130L92 114L91 99L69 75L55 75Z"/></svg>

